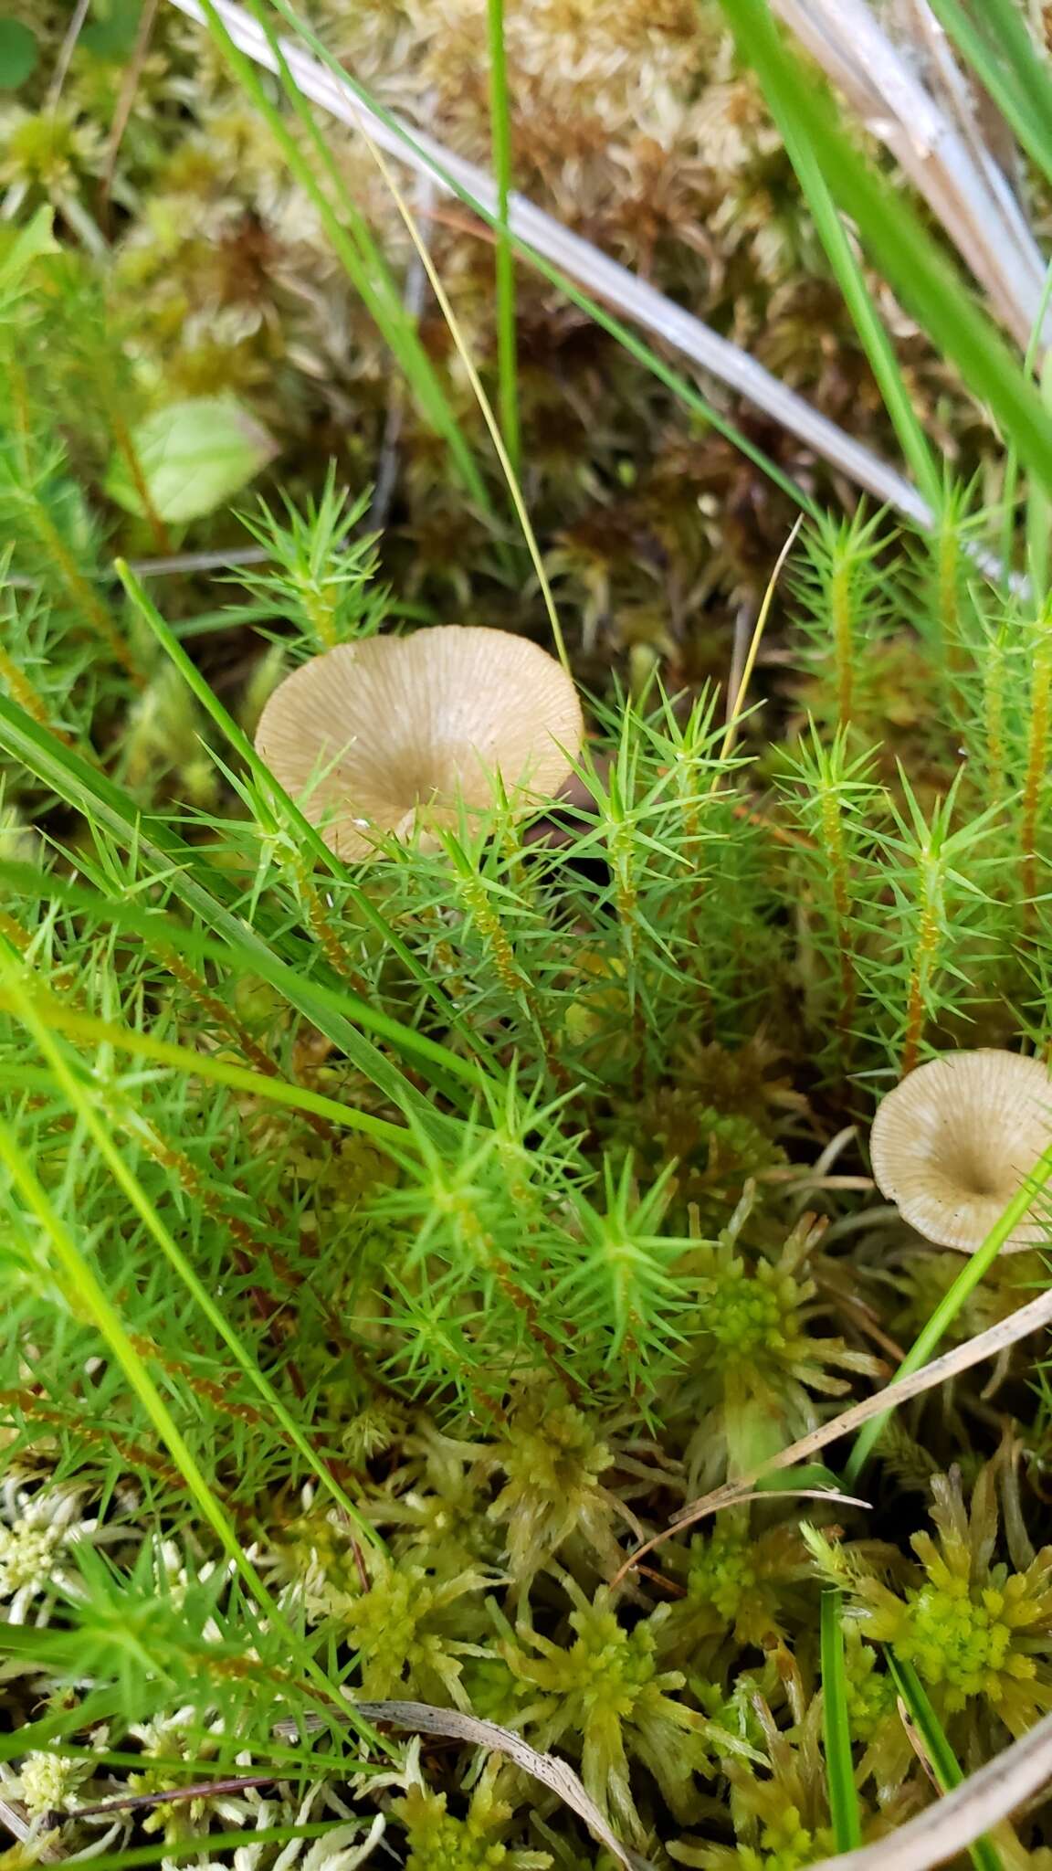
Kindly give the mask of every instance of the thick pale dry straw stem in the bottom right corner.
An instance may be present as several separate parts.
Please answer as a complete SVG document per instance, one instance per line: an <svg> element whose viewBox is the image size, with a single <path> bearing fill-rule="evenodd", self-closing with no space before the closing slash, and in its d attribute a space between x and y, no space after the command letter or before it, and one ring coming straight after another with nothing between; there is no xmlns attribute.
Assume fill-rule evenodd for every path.
<svg viewBox="0 0 1052 1871"><path fill-rule="evenodd" d="M876 1845L820 1858L811 1871L928 1871L955 1858L1052 1779L1052 1716L994 1755L977 1774L943 1794Z"/></svg>

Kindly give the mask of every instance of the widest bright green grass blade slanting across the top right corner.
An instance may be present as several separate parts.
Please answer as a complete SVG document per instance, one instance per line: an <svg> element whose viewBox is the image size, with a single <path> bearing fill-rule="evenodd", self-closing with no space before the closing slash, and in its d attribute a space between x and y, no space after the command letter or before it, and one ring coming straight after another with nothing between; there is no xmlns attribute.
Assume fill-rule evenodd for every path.
<svg viewBox="0 0 1052 1871"><path fill-rule="evenodd" d="M756 71L773 114L782 125L792 125L797 142L811 148L874 264L928 339L953 359L970 393L988 406L1030 471L1052 488L1052 434L1041 397L958 271L908 202L870 172L840 129L827 92L816 86L814 73L784 43L766 0L721 4L741 58Z"/></svg>

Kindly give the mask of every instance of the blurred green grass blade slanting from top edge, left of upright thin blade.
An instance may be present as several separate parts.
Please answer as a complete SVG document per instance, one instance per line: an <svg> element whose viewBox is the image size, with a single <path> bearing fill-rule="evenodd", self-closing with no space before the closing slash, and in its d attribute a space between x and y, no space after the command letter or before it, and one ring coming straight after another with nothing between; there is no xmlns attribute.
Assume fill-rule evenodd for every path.
<svg viewBox="0 0 1052 1871"><path fill-rule="evenodd" d="M492 501L472 447L464 438L460 423L457 421L442 382L419 341L416 326L404 311L387 264L373 241L365 219L337 176L335 181L339 187L341 215L350 226L348 234L341 215L337 215L329 196L322 189L314 168L307 161L296 138L290 135L281 112L271 103L253 60L245 58L245 54L234 45L223 19L212 6L212 0L202 0L202 13L208 32L226 58L234 77L253 99L255 109L268 123L290 172L296 176L301 189L311 196L341 266L399 361L421 413L446 440L457 475L464 483L479 511L489 516L490 524L496 524ZM298 114L309 127L311 140L316 150L320 140L318 129L311 120L303 99L296 92L296 86L290 86L288 92ZM329 176L335 176L335 168L329 168Z"/></svg>

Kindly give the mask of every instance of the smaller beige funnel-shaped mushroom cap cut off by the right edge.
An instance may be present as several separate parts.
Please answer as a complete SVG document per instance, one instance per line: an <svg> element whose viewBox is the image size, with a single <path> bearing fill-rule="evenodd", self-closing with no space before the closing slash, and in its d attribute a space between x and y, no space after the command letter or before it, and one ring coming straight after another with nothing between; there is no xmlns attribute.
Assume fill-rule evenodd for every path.
<svg viewBox="0 0 1052 1871"><path fill-rule="evenodd" d="M1052 1143L1052 1080L1039 1059L981 1048L919 1065L872 1121L872 1173L904 1222L973 1254ZM1046 1240L1028 1214L1009 1252Z"/></svg>

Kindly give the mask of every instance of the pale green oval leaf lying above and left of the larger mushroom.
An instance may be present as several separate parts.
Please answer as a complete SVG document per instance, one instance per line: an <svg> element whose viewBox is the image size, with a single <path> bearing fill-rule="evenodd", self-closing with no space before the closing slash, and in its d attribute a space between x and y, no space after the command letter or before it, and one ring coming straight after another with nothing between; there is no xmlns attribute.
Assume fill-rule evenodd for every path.
<svg viewBox="0 0 1052 1871"><path fill-rule="evenodd" d="M161 520L200 520L232 500L277 455L273 436L234 397L187 397L148 415L131 445ZM142 490L114 455L105 479L110 500L142 518Z"/></svg>

